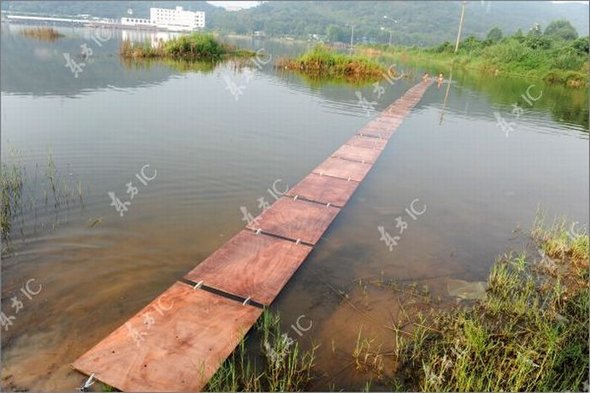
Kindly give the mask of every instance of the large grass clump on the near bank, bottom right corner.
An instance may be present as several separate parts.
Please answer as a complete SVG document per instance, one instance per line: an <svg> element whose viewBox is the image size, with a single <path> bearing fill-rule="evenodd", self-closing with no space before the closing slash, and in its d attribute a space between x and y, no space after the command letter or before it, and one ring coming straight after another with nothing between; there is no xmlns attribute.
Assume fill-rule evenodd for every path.
<svg viewBox="0 0 590 393"><path fill-rule="evenodd" d="M398 387L421 391L582 391L588 381L588 235L539 223L533 236L552 263L507 255L487 297L435 314L399 348ZM545 257L544 257L545 258ZM401 383L400 383L401 381Z"/></svg>

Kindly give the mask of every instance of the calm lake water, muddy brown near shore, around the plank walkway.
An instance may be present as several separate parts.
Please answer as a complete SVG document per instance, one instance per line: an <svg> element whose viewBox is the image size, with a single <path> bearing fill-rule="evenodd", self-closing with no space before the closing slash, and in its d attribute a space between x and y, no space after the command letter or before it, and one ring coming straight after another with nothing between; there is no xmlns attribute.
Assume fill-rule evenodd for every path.
<svg viewBox="0 0 590 393"><path fill-rule="evenodd" d="M378 91L273 67L305 44L236 38L270 61L187 69L122 62L122 37L145 38L136 32L60 28L65 37L44 42L19 29L3 24L1 38L2 162L26 169L28 198L2 258L2 311L15 317L2 332L7 390L79 387L73 360L240 231L244 209L255 216L260 198L272 203L273 184L297 183L423 72L399 64L414 78ZM64 54L85 63L77 77ZM326 375L315 390L363 387L350 358L361 327L391 345L375 320L397 306L356 280L416 282L451 302L447 280L485 280L499 255L527 246L539 205L587 226L587 91L445 77L273 303L291 337L321 345ZM527 89L542 94L530 105ZM136 176L144 167L146 184ZM129 182L137 194L121 216L109 193L128 200ZM426 212L414 220L405 209L416 199ZM377 228L398 234L398 217L408 227L390 251ZM30 299L27 283L38 292ZM312 328L299 336L290 326L302 315Z"/></svg>

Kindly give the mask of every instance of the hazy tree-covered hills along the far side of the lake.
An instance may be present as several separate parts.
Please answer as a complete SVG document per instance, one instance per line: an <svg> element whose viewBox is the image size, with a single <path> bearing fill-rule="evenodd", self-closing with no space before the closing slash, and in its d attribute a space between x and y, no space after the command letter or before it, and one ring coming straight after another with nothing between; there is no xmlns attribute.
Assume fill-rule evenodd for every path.
<svg viewBox="0 0 590 393"><path fill-rule="evenodd" d="M349 41L355 25L355 41L433 45L454 40L460 1L269 1L240 11L226 11L205 1L3 1L3 10L52 14L91 14L117 18L133 10L147 17L149 7L183 6L207 13L207 28L221 32L269 36L307 37L317 34L334 41ZM505 34L535 23L541 27L567 19L580 35L588 35L588 3L555 4L549 1L469 1L464 37L483 38L492 27ZM387 16L387 18L384 18Z"/></svg>

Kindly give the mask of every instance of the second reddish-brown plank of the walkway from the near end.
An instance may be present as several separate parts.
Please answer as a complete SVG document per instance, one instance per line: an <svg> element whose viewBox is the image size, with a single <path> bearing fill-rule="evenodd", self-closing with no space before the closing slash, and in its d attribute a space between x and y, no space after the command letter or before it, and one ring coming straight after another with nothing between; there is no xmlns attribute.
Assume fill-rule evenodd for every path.
<svg viewBox="0 0 590 393"><path fill-rule="evenodd" d="M184 278L270 305L311 247L243 230Z"/></svg>

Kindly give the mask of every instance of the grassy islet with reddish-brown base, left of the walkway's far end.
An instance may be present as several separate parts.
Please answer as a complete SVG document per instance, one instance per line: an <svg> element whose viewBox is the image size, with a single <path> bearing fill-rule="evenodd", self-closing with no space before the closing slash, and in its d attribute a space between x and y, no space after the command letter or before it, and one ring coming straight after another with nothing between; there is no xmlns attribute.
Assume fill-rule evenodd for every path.
<svg viewBox="0 0 590 393"><path fill-rule="evenodd" d="M300 72L312 78L331 78L348 82L376 81L386 70L369 57L346 55L317 45L295 59L284 58L278 67Z"/></svg>

